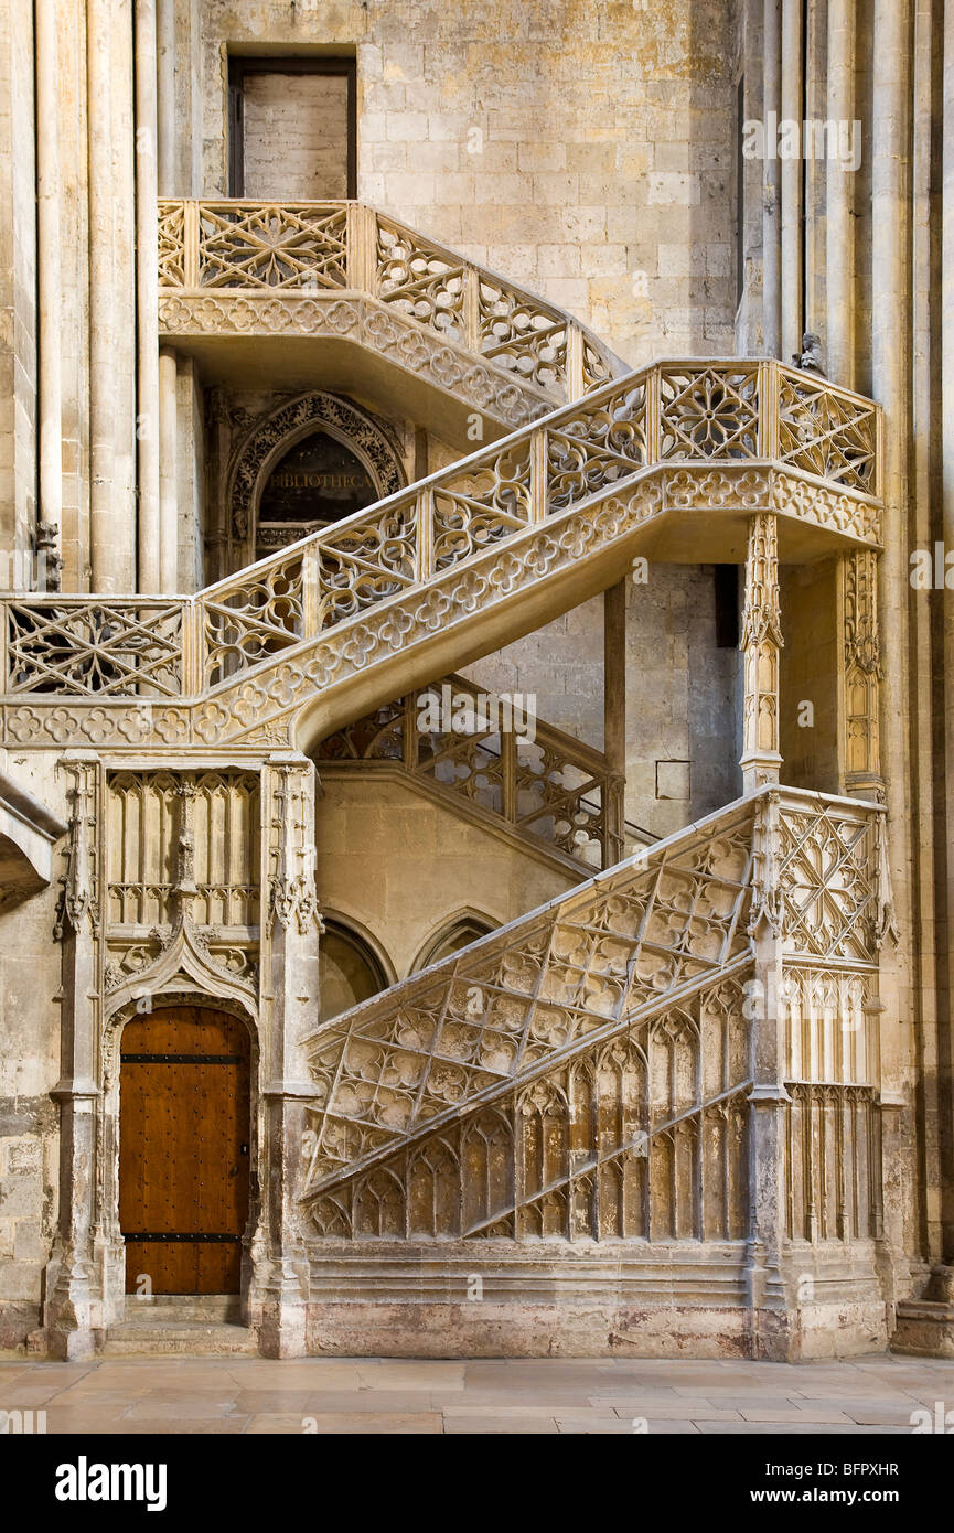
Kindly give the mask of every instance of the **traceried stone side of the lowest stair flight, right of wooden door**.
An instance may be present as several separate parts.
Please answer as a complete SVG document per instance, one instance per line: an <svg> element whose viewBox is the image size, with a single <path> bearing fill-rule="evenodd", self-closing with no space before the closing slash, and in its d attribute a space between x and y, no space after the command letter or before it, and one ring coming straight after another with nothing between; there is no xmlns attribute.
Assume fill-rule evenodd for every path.
<svg viewBox="0 0 954 1533"><path fill-rule="evenodd" d="M821 970L871 969L890 920L882 819L851 800L764 789L319 1026L307 1044L314 1228L331 1240L534 1229L600 1240L623 1234L620 1220L652 1239L653 1219L675 1219L678 1234L672 1210L653 1211L666 1147L692 1130L701 1156L704 1122L744 1122L758 1084L761 1012L745 1000L756 940L768 926L779 957L790 934L790 950L808 940ZM867 1088L868 1064L839 1061L837 1079ZM551 1142L528 1150L540 1113ZM727 1233L744 1226L748 1173L730 1173L724 1154L709 1180ZM428 1185L449 1179L423 1210L422 1162ZM690 1182L683 1196L692 1202ZM689 1223L702 1239L701 1206Z"/></svg>

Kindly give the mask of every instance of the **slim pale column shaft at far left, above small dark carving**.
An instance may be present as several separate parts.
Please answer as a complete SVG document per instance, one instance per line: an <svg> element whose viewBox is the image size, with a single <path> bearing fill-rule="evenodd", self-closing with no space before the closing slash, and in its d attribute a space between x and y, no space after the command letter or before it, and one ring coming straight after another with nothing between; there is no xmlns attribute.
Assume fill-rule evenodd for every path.
<svg viewBox="0 0 954 1533"><path fill-rule="evenodd" d="M38 521L51 558L63 546L63 350L60 259L60 51L57 0L37 0L37 288L38 288ZM58 575L58 570L57 570ZM26 586L26 579L17 579ZM43 581L43 584L49 584Z"/></svg>

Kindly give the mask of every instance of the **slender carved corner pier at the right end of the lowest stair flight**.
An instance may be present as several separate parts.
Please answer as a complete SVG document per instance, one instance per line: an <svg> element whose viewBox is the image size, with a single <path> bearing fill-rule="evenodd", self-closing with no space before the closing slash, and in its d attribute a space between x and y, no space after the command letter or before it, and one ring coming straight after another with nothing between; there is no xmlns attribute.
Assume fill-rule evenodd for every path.
<svg viewBox="0 0 954 1533"><path fill-rule="evenodd" d="M785 1294L782 1229L785 1211L785 1035L782 995L782 941L778 891L779 803L764 793L753 826L753 901L748 934L755 972L747 996L752 1023L752 1095L748 1096L748 1229L747 1286L752 1312L752 1357L782 1361L790 1351L788 1311L796 1295Z"/></svg>

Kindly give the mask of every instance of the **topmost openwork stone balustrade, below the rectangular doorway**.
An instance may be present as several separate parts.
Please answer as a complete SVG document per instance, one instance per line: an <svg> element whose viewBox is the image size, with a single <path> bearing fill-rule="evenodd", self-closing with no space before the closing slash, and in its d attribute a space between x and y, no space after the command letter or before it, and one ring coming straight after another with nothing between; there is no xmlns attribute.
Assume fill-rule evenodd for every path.
<svg viewBox="0 0 954 1533"><path fill-rule="evenodd" d="M517 426L623 363L563 310L360 202L160 202L160 333L360 345Z"/></svg>

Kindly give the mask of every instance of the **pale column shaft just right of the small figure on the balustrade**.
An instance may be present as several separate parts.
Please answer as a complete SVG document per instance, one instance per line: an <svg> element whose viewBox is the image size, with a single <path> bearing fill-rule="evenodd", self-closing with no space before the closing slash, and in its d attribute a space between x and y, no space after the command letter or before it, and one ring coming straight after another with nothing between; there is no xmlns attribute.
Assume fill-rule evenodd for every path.
<svg viewBox="0 0 954 1533"><path fill-rule="evenodd" d="M853 6L828 0L827 117L836 124L853 123ZM825 299L828 377L854 388L854 173L837 156L827 161L825 176Z"/></svg>

